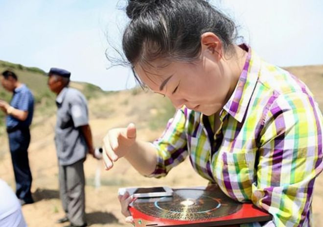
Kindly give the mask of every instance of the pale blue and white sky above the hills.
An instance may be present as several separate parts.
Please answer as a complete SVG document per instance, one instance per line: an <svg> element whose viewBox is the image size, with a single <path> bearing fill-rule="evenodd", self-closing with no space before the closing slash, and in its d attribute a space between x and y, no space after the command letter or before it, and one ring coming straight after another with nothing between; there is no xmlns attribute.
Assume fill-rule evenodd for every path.
<svg viewBox="0 0 323 227"><path fill-rule="evenodd" d="M278 66L323 64L322 0L210 0L239 26L258 55ZM0 0L0 60L59 67L103 90L136 85L130 69L110 67L121 50L126 0Z"/></svg>

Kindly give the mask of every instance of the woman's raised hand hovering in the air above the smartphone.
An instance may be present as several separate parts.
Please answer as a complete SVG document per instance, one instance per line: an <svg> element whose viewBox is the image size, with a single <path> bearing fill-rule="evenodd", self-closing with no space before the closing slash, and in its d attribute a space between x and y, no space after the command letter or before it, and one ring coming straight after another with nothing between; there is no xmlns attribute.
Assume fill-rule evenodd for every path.
<svg viewBox="0 0 323 227"><path fill-rule="evenodd" d="M135 145L136 126L130 123L126 128L109 130L103 139L103 161L106 170L113 167L113 162L125 156Z"/></svg>

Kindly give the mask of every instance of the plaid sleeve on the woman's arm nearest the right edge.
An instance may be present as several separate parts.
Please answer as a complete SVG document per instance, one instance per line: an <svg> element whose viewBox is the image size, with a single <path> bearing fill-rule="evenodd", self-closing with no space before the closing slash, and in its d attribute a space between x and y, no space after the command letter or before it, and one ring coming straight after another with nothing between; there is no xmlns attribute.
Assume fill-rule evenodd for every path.
<svg viewBox="0 0 323 227"><path fill-rule="evenodd" d="M273 215L266 226L312 226L315 178L322 172L322 114L312 97L280 95L260 133L252 201Z"/></svg>

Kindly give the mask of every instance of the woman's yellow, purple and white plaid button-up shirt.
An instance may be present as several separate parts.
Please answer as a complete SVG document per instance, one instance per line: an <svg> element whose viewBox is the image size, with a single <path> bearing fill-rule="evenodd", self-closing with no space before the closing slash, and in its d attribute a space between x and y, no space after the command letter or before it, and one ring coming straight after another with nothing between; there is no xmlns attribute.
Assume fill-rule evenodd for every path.
<svg viewBox="0 0 323 227"><path fill-rule="evenodd" d="M158 164L150 177L165 176L189 156L194 170L229 197L271 213L273 221L266 226L313 226L313 185L323 169L323 117L308 88L249 48L220 120L214 133L214 116L178 110L154 142Z"/></svg>

